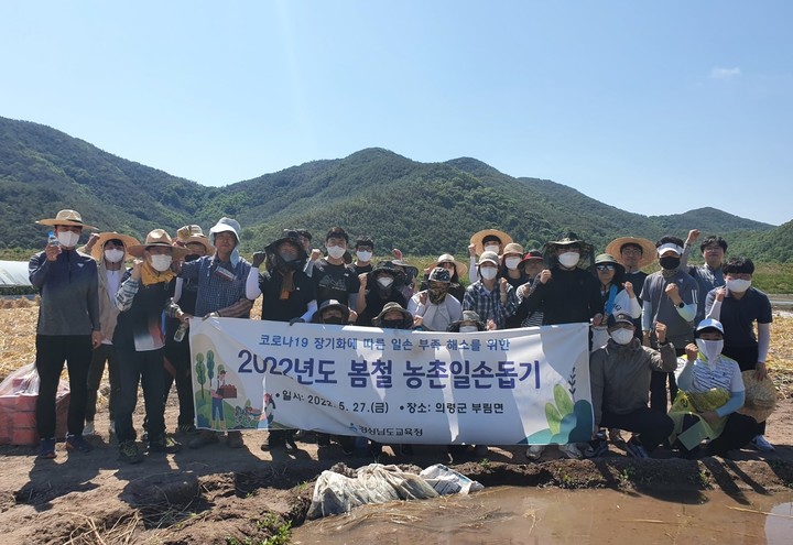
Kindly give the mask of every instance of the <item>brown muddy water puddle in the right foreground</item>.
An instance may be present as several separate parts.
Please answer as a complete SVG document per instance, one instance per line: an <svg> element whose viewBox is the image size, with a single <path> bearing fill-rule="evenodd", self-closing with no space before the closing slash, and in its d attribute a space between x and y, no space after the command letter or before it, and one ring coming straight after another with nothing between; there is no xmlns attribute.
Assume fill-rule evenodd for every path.
<svg viewBox="0 0 793 545"><path fill-rule="evenodd" d="M493 488L469 497L366 505L294 528L295 544L793 543L793 493Z"/></svg>

